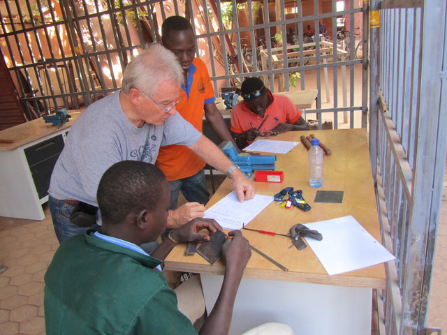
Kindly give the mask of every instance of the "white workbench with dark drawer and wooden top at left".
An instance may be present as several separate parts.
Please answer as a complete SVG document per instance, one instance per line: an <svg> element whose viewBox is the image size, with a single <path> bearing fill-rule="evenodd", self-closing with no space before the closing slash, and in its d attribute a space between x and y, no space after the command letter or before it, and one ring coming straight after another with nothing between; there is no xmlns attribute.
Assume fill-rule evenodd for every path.
<svg viewBox="0 0 447 335"><path fill-rule="evenodd" d="M66 134L80 115L70 110L66 124L36 119L0 131L0 216L43 220L42 204Z"/></svg>

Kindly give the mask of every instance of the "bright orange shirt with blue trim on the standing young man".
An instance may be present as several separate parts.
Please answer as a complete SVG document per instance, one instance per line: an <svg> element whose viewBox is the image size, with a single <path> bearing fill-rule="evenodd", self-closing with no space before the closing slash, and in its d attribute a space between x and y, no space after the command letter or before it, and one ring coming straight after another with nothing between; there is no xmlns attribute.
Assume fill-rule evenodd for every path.
<svg viewBox="0 0 447 335"><path fill-rule="evenodd" d="M182 100L175 106L177 112L189 121L200 133L203 126L203 107L214 103L214 89L205 63L198 58L188 69L186 87L180 89ZM156 165L163 171L168 181L191 177L205 166L196 154L183 145L160 147Z"/></svg>

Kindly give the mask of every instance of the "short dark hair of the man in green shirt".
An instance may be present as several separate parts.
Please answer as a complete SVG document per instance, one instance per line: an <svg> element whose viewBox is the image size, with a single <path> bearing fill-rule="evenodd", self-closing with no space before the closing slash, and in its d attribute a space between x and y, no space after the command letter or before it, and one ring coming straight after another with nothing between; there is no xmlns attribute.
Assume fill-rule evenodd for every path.
<svg viewBox="0 0 447 335"><path fill-rule="evenodd" d="M96 198L104 222L117 224L131 211L153 211L166 178L159 168L139 161L121 161L104 172Z"/></svg>

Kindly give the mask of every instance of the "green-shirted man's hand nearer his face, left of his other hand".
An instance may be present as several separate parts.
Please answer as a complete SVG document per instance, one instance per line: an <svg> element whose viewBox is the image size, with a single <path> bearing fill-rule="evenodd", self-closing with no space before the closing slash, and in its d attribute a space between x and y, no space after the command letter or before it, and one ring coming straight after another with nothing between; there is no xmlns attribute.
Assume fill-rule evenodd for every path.
<svg viewBox="0 0 447 335"><path fill-rule="evenodd" d="M205 232L200 232L200 230L206 229L209 234ZM222 230L219 223L217 223L212 218L194 218L189 223L182 225L173 232L171 232L171 237L178 241L190 242L190 241L210 241L210 235L212 235L217 230Z"/></svg>

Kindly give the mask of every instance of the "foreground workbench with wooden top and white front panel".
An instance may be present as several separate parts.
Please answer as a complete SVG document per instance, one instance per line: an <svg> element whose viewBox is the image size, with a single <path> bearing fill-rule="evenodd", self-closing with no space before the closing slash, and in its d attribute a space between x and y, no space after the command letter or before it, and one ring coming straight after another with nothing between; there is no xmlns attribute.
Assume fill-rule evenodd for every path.
<svg viewBox="0 0 447 335"><path fill-rule="evenodd" d="M342 204L314 202L318 189L309 187L307 150L298 144L291 152L277 155L276 170L284 171L284 182L256 183L256 193L274 195L282 188L301 189L312 209L282 209L272 202L247 228L282 234L295 223L311 223L352 215L372 236L381 241L367 134L365 129L289 132L272 140L298 140L314 133L332 149L325 156L325 184L321 190L344 191ZM207 207L232 191L223 182ZM237 293L230 334L269 321L285 322L297 334L367 334L371 327L372 289L385 288L383 264L329 276L308 247L298 251L290 239L242 231L250 244L288 268L281 271L260 255L252 253ZM177 246L166 258L166 268L200 273L207 308L212 308L224 271L221 262L210 266L199 255L184 256ZM256 312L256 313L255 313ZM322 320L325 320L322 322Z"/></svg>

